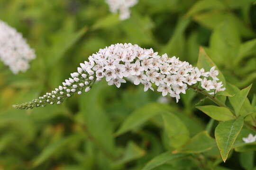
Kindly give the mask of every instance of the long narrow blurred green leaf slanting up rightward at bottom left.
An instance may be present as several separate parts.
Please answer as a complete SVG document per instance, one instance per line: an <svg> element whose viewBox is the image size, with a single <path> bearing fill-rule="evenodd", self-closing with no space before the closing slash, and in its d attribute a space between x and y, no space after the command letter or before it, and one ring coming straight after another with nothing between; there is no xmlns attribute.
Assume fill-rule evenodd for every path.
<svg viewBox="0 0 256 170"><path fill-rule="evenodd" d="M33 161L33 166L36 167L49 159L54 153L57 153L60 149L64 149L67 144L73 143L77 138L80 138L78 135L73 135L65 138L61 138L56 142L49 144L44 148L44 150L36 157Z"/></svg>

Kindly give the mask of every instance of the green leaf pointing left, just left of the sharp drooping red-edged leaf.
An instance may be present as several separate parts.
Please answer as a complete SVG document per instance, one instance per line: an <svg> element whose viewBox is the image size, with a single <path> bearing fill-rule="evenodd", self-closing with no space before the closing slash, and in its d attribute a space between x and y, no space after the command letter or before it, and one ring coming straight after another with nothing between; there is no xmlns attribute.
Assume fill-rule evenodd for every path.
<svg viewBox="0 0 256 170"><path fill-rule="evenodd" d="M187 144L177 149L177 153L202 153L216 146L216 141L203 131L193 136Z"/></svg>

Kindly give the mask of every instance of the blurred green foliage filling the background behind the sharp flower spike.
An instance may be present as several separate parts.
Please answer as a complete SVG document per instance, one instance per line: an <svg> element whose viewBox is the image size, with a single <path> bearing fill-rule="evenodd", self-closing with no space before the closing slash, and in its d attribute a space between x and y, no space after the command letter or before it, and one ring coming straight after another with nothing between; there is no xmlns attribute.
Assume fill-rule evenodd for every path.
<svg viewBox="0 0 256 170"><path fill-rule="evenodd" d="M152 47L193 65L203 46L229 83L239 88L254 84L252 99L255 0L139 0L131 11L128 20L120 21L104 0L0 0L0 19L21 32L37 54L31 68L18 75L0 63L0 170L141 170L156 155L174 150L155 114L160 93L144 93L142 86L127 83L117 89L101 81L90 93L58 106L11 108L51 91L80 62L110 44ZM188 90L181 98L160 106L173 110L191 137L205 129L213 136L216 122L195 109L203 96ZM141 117L122 129L134 112ZM254 160L250 151L233 153L221 163L213 147L154 170L253 170Z"/></svg>

